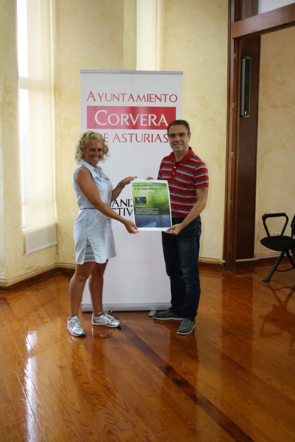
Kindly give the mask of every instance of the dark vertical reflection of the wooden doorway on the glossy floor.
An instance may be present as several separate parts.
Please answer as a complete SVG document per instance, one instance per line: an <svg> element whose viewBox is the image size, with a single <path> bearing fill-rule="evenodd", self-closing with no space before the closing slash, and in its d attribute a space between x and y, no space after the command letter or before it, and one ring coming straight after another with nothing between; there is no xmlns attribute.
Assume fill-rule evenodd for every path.
<svg viewBox="0 0 295 442"><path fill-rule="evenodd" d="M253 297L252 275L224 273L222 279L220 390L222 401L231 408L235 440L253 440L245 431L243 414L252 420L251 398L255 389L253 368ZM234 373L234 375L233 375ZM234 394L232 392L234 391ZM234 427L235 423L239 423ZM250 436L248 438L248 436Z"/></svg>

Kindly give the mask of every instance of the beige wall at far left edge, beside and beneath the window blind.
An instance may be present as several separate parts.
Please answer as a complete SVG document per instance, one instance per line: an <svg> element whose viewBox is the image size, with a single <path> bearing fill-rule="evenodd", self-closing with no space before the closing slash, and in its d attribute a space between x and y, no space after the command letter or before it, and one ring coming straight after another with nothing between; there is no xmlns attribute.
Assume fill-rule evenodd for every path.
<svg viewBox="0 0 295 442"><path fill-rule="evenodd" d="M1 149L0 171L0 285L8 285L47 270L55 264L55 247L29 255L24 254L22 230L21 181L19 168L19 140L17 122L17 51L15 2L0 0L0 98L1 98ZM4 258L4 259L3 259Z"/></svg>

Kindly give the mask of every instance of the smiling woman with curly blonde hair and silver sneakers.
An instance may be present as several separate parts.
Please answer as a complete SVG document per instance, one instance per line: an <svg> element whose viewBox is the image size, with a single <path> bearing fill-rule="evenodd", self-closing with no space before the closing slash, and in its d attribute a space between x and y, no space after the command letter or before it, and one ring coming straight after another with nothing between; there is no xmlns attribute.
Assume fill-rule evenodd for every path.
<svg viewBox="0 0 295 442"><path fill-rule="evenodd" d="M93 307L92 325L119 327L120 321L103 312L103 275L109 258L116 256L111 219L120 221L129 233L137 233L135 224L110 208L122 189L136 176L128 176L113 189L109 178L98 166L108 155L100 133L82 133L76 145L72 183L80 208L74 225L76 270L70 282L70 317L67 329L73 336L85 336L78 316L83 290L89 278Z"/></svg>

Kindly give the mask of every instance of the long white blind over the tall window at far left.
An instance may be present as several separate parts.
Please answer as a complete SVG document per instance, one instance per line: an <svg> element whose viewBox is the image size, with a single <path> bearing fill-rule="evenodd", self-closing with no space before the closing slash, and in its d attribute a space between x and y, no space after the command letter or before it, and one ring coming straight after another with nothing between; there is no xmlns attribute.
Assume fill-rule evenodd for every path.
<svg viewBox="0 0 295 442"><path fill-rule="evenodd" d="M17 0L19 122L26 253L57 244L50 0Z"/></svg>

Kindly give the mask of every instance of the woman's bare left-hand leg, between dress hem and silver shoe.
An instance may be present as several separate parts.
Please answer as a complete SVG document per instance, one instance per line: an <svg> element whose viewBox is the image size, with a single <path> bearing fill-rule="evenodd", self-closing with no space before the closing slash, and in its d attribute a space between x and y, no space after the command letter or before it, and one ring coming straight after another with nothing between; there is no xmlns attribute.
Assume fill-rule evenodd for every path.
<svg viewBox="0 0 295 442"><path fill-rule="evenodd" d="M74 276L70 281L70 317L78 316L83 290L87 279L95 267L94 263L76 264Z"/></svg>

